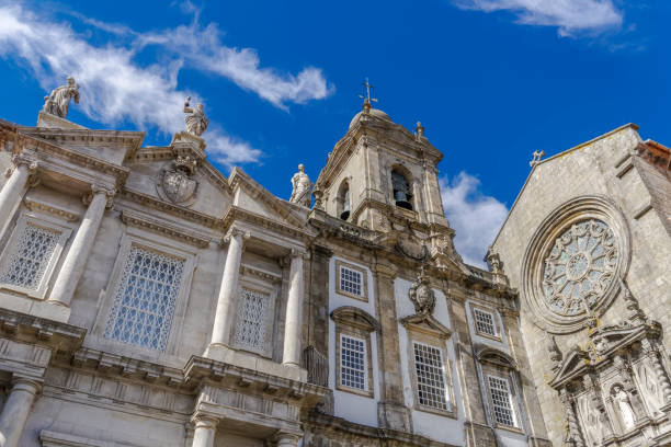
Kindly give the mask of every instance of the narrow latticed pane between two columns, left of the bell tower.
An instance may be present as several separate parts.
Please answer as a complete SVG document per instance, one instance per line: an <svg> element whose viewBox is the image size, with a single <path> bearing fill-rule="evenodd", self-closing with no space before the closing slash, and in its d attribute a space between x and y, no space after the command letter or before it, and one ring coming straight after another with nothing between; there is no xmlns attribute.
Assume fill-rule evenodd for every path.
<svg viewBox="0 0 671 447"><path fill-rule="evenodd" d="M257 290L242 289L236 326L236 344L252 349L265 348L266 316L270 296Z"/></svg>

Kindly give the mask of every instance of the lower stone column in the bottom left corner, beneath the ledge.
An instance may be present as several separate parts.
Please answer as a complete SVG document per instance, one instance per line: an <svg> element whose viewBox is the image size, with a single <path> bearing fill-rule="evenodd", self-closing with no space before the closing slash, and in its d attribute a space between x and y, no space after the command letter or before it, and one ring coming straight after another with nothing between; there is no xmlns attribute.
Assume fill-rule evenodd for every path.
<svg viewBox="0 0 671 447"><path fill-rule="evenodd" d="M18 447L23 427L41 385L31 379L15 378L0 414L0 447Z"/></svg>

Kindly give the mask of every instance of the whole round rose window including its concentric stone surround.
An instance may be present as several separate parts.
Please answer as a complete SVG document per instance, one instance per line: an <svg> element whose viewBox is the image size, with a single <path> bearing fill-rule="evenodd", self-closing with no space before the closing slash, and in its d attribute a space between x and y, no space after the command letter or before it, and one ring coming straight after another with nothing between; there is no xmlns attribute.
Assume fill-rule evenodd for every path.
<svg viewBox="0 0 671 447"><path fill-rule="evenodd" d="M522 262L522 297L545 331L570 333L617 296L629 262L622 213L601 196L576 197L536 228Z"/></svg>

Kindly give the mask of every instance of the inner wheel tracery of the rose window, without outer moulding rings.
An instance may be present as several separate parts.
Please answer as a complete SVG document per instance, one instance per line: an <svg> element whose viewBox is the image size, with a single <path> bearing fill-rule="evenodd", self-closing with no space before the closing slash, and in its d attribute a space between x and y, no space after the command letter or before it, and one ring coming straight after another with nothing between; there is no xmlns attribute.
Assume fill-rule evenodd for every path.
<svg viewBox="0 0 671 447"><path fill-rule="evenodd" d="M576 316L595 307L613 282L618 252L613 231L601 220L572 225L545 259L543 291L549 308Z"/></svg>

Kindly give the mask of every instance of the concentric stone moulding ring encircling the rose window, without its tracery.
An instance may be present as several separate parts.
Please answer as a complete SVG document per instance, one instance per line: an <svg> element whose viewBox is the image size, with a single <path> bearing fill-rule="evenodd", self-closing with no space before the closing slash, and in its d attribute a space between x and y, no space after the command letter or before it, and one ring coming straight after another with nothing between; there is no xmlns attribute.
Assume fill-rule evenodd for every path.
<svg viewBox="0 0 671 447"><path fill-rule="evenodd" d="M566 334L581 330L588 314L582 311L576 316L561 316L549 309L542 288L545 257L557 237L572 225L580 221L598 219L606 224L615 236L618 259L614 278L626 277L632 257L629 228L622 211L609 198L603 196L580 196L559 205L538 226L531 238L522 260L522 297L527 307L527 314L541 329ZM605 287L592 311L601 316L615 299L619 286L613 279Z"/></svg>

